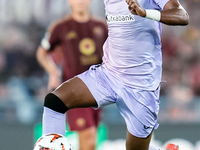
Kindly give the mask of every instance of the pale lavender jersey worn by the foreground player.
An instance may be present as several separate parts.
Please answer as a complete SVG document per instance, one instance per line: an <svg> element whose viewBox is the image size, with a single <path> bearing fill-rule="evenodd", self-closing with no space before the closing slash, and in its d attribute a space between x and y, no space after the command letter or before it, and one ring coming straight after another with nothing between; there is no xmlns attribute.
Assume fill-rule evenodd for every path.
<svg viewBox="0 0 200 150"><path fill-rule="evenodd" d="M169 0L138 0L145 9L162 10ZM161 82L161 24L132 14L125 0L104 0L109 36L104 67L125 85L155 90Z"/></svg>

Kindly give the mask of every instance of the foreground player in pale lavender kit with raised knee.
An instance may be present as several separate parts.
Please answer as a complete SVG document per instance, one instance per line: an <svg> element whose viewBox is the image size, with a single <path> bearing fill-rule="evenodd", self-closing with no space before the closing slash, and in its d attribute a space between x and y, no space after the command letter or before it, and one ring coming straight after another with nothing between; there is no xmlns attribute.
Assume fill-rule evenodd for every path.
<svg viewBox="0 0 200 150"><path fill-rule="evenodd" d="M158 127L162 74L161 23L187 25L177 0L104 0L109 35L101 65L64 82L45 97L43 134L65 135L65 112L116 103L127 126L127 150L149 146ZM167 145L165 150L178 150Z"/></svg>

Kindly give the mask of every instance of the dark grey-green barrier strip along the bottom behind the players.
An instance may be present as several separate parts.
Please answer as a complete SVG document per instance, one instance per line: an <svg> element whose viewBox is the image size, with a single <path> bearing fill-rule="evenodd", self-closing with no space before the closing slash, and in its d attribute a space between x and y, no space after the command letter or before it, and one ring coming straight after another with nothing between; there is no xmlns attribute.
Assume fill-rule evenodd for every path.
<svg viewBox="0 0 200 150"><path fill-rule="evenodd" d="M0 124L1 150L32 150L34 144L34 125ZM108 140L125 139L124 125L107 126ZM200 141L200 124L161 124L154 131L155 139L166 142L181 138L193 145Z"/></svg>

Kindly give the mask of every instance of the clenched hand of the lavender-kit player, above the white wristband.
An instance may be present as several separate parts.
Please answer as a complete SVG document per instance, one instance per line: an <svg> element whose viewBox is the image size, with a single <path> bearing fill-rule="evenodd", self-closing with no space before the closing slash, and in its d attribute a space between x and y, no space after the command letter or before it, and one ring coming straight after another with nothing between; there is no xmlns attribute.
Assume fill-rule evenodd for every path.
<svg viewBox="0 0 200 150"><path fill-rule="evenodd" d="M129 5L128 8L131 13L134 15L139 15L141 17L146 16L145 9L138 3L137 0L126 0L127 4Z"/></svg>

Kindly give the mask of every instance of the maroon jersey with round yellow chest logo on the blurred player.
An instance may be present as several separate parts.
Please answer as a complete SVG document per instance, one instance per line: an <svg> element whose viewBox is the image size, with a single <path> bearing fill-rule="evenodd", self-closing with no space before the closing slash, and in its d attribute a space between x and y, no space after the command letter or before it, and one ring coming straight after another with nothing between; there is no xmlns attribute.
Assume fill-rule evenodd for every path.
<svg viewBox="0 0 200 150"><path fill-rule="evenodd" d="M63 81L89 69L93 64L102 63L103 43L108 35L106 25L90 18L80 23L68 16L50 29L49 51L57 46L63 56Z"/></svg>

